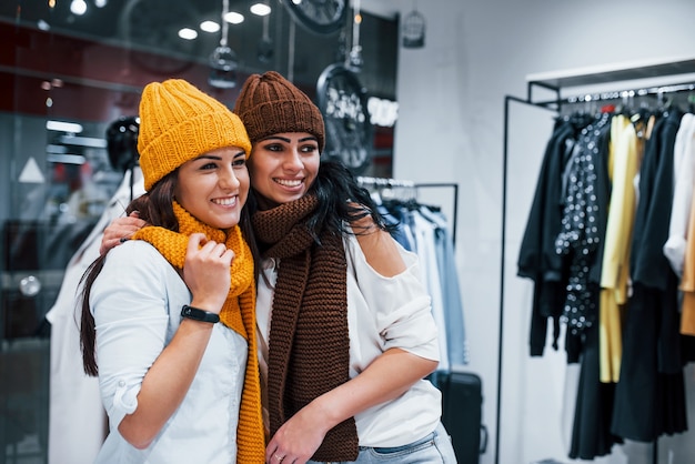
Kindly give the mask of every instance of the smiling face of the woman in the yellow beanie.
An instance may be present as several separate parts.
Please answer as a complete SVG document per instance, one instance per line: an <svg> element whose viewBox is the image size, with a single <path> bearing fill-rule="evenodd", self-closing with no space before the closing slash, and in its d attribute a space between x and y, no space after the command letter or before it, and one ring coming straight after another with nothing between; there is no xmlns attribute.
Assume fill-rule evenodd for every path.
<svg viewBox="0 0 695 464"><path fill-rule="evenodd" d="M199 221L215 229L236 225L249 196L246 154L225 147L187 161L179 168L174 194Z"/></svg>

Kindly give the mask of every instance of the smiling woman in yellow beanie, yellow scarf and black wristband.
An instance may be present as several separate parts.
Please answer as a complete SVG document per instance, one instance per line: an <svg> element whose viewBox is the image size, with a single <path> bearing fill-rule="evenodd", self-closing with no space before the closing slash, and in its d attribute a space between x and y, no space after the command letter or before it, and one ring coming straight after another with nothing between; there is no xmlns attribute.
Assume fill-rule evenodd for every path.
<svg viewBox="0 0 695 464"><path fill-rule="evenodd" d="M262 462L248 134L167 80L144 88L138 150L147 193L129 210L148 226L83 278L83 364L110 425L95 462Z"/></svg>

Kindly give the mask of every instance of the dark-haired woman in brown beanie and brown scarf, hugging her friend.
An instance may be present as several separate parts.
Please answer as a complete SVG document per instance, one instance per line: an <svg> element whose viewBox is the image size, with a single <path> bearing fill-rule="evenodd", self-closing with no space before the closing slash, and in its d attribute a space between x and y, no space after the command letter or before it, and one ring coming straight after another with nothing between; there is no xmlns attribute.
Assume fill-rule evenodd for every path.
<svg viewBox="0 0 695 464"><path fill-rule="evenodd" d="M416 256L344 167L321 162L323 119L301 90L254 74L234 112L253 147L265 461L455 463L424 380L440 354ZM143 224L120 219L103 248Z"/></svg>

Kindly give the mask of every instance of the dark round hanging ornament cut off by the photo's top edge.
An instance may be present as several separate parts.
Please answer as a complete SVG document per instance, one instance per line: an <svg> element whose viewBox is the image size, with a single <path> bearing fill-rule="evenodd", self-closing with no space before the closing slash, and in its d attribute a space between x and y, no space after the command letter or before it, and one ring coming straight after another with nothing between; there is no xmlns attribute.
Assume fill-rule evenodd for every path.
<svg viewBox="0 0 695 464"><path fill-rule="evenodd" d="M282 0L292 17L312 32L331 33L345 26L345 0Z"/></svg>

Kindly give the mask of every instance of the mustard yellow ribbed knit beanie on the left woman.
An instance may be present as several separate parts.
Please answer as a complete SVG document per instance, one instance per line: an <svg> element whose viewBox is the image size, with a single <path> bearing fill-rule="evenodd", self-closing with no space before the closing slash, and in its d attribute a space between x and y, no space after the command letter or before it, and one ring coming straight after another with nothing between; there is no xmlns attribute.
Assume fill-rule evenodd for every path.
<svg viewBox="0 0 695 464"><path fill-rule="evenodd" d="M223 147L251 153L239 117L182 79L151 82L140 100L138 151L144 188L199 155Z"/></svg>

